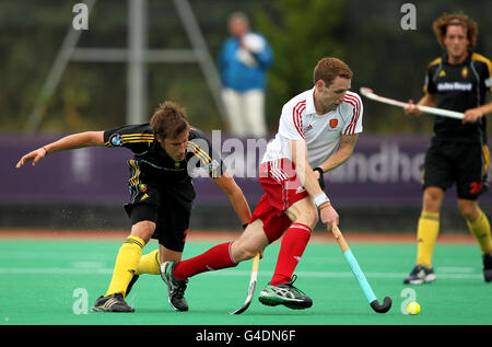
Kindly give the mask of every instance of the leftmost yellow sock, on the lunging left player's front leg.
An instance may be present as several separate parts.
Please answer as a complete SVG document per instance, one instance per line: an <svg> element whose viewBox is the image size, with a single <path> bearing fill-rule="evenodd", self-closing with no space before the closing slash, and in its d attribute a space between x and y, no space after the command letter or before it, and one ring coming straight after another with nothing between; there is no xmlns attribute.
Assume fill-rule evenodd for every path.
<svg viewBox="0 0 492 347"><path fill-rule="evenodd" d="M128 284L137 271L137 265L144 245L145 242L137 236L128 236L125 240L116 257L112 282L107 289L106 297L118 292L125 296Z"/></svg>

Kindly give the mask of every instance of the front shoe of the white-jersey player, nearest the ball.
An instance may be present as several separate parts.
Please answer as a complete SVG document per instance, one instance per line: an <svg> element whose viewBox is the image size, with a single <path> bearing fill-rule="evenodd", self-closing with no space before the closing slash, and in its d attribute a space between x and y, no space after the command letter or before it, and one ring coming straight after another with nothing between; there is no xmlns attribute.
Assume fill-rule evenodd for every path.
<svg viewBox="0 0 492 347"><path fill-rule="evenodd" d="M297 276L292 276L292 280L286 284L272 286L270 282L259 293L258 300L266 305L276 306L283 304L289 309L303 310L313 305L313 299L307 297L300 289L294 287Z"/></svg>

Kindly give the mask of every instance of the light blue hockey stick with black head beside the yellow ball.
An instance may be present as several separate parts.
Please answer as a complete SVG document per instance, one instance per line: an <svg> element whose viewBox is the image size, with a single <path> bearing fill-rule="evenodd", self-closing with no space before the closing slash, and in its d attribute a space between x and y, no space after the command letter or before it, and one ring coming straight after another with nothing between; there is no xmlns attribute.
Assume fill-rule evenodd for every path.
<svg viewBox="0 0 492 347"><path fill-rule="evenodd" d="M365 294L365 298L367 298L367 301L371 304L371 308L373 308L373 310L376 311L377 313L388 312L389 309L391 308L391 298L385 297L383 304L380 304L379 301L377 301L377 298L374 294L374 291L371 288L367 279L365 278L364 273L359 266L358 261L353 256L352 251L350 251L349 245L345 242L345 239L343 238L342 233L340 232L340 229L338 229L338 225L336 223L331 224L331 232L333 233L335 239L337 239L337 242L340 245L341 251L343 252L343 256L345 257L345 261L349 263L350 268L352 269L352 273L359 282L359 286L361 286L362 291Z"/></svg>

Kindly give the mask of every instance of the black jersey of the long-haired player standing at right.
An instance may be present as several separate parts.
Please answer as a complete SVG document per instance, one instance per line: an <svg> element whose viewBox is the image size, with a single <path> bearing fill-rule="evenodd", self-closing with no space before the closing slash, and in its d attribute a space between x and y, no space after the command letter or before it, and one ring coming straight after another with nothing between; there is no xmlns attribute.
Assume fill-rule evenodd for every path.
<svg viewBox="0 0 492 347"><path fill-rule="evenodd" d="M466 112L485 103L492 92L492 63L485 57L469 53L459 65L450 65L447 54L429 65L424 92L436 96L436 107ZM459 119L434 116L434 135L452 141L487 142L487 119L462 124Z"/></svg>

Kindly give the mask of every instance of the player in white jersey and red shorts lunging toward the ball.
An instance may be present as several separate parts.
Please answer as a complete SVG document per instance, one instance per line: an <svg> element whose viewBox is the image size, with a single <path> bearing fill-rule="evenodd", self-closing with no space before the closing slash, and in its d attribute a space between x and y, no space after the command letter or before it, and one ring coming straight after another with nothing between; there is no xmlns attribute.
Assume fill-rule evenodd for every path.
<svg viewBox="0 0 492 347"><path fill-rule="evenodd" d="M337 58L323 58L314 69L314 86L282 108L279 130L267 146L259 169L265 195L243 234L201 255L162 264L168 299L195 275L230 268L262 253L280 239L271 281L259 294L266 305L307 309L313 300L293 286L294 269L309 241L318 216L329 231L339 215L323 190L323 173L344 163L362 132L361 97L349 91L352 71ZM314 167L314 169L313 169ZM318 212L319 211L319 212Z"/></svg>

